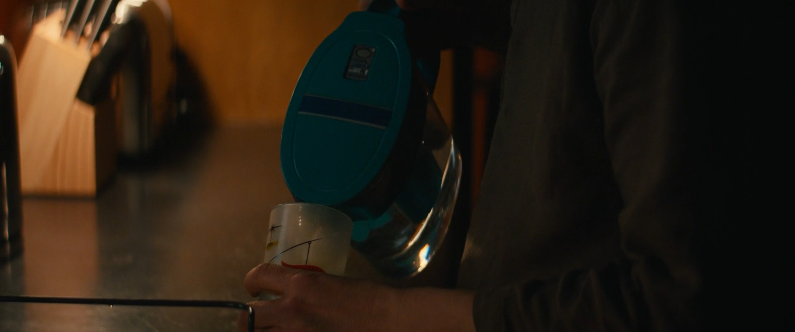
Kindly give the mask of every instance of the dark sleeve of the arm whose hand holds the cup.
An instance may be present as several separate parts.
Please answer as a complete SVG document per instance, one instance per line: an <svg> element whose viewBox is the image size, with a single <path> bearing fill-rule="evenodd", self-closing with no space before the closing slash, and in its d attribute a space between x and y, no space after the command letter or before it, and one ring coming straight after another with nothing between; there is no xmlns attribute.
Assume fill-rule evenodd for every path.
<svg viewBox="0 0 795 332"><path fill-rule="evenodd" d="M790 300L787 310L769 310L780 307L770 298L783 289L766 284L779 281L774 266L791 260L762 249L783 229L768 228L774 223L762 213L770 207L754 200L751 120L773 114L765 98L786 95L770 97L770 71L758 73L781 60L758 38L786 39L766 30L780 13L727 6L736 5L595 6L594 78L624 202L622 256L603 268L479 291L478 330L766 330L782 318L791 323Z"/></svg>

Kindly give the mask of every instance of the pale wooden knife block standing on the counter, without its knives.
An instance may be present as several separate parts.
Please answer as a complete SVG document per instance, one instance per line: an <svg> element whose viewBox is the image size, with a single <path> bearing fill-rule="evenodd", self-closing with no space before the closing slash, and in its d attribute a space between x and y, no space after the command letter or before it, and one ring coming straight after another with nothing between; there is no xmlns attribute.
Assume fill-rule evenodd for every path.
<svg viewBox="0 0 795 332"><path fill-rule="evenodd" d="M115 171L113 103L76 99L92 52L60 38L64 13L33 27L17 72L22 193L95 196ZM96 46L96 45L95 45ZM98 52L95 47L94 53Z"/></svg>

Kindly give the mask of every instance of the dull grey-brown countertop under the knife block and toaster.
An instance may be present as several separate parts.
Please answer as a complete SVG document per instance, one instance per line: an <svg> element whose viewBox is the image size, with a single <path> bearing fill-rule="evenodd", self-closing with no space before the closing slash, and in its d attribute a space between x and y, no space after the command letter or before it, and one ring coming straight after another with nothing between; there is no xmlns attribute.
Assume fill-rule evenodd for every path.
<svg viewBox="0 0 795 332"><path fill-rule="evenodd" d="M120 168L95 199L25 198L25 249L0 265L0 295L252 300L242 279L262 261L270 209L292 201L280 135L279 127L223 125L157 163ZM351 250L346 275L440 284L439 264L386 280ZM215 308L0 303L2 331L233 331L237 317Z"/></svg>

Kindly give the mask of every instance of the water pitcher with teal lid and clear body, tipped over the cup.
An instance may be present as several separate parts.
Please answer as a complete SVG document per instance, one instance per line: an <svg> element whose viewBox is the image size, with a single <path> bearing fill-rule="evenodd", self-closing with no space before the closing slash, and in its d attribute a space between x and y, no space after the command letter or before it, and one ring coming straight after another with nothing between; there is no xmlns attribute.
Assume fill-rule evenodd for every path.
<svg viewBox="0 0 795 332"><path fill-rule="evenodd" d="M281 170L299 202L351 217L351 246L385 276L421 272L444 240L460 154L432 98L438 53L417 61L401 10L376 0L316 48L289 102Z"/></svg>

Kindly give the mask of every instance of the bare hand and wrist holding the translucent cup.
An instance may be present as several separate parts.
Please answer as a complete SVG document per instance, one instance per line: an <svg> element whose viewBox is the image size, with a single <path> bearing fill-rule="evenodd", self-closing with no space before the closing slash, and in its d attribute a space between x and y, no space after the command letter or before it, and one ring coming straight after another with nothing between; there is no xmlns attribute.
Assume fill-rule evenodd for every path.
<svg viewBox="0 0 795 332"><path fill-rule="evenodd" d="M249 303L257 330L466 331L475 330L472 294L432 288L397 289L366 280L261 264L243 284L252 296L281 297ZM247 315L238 326L246 330Z"/></svg>

